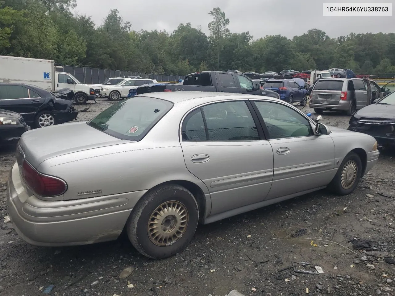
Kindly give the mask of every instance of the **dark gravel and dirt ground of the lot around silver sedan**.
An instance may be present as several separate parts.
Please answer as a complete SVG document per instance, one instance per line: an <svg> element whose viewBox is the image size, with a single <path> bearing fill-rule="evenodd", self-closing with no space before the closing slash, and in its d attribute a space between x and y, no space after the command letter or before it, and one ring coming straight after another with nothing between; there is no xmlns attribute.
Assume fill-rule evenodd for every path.
<svg viewBox="0 0 395 296"><path fill-rule="evenodd" d="M100 99L78 120L111 104ZM330 126L347 127L347 116L327 112L323 117ZM395 261L388 259L395 255L394 157L382 151L352 195L337 197L323 190L201 225L188 249L169 259L149 260L125 236L77 247L26 244L4 223L6 181L15 154L0 150L0 295L39 295L50 285L55 285L51 295L81 296L223 296L232 289L286 296L307 295L307 288L309 295L395 295L395 265L390 264ZM290 238L300 229L305 230L299 238ZM354 238L372 242L372 250L353 249ZM295 270L311 273L320 266L324 273L296 272L289 268L297 265L292 262L311 264ZM133 273L120 279L128 266Z"/></svg>

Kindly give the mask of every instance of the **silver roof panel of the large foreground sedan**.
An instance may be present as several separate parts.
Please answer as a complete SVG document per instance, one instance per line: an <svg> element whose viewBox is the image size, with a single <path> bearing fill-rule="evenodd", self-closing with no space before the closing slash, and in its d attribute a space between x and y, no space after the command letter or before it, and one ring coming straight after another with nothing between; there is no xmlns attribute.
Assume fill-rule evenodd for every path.
<svg viewBox="0 0 395 296"><path fill-rule="evenodd" d="M200 99L205 97L215 97L216 101L229 99L259 99L257 95L226 93L226 92L151 92L137 95L141 97L154 97L164 99L173 103L181 103L191 99ZM267 99L268 97L265 97ZM273 99L276 100L276 99Z"/></svg>

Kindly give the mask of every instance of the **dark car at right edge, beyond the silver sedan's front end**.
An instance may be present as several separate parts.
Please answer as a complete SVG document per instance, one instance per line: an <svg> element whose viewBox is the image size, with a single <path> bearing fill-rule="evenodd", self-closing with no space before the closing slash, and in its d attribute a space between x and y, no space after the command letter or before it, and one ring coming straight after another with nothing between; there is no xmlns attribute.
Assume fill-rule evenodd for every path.
<svg viewBox="0 0 395 296"><path fill-rule="evenodd" d="M394 127L395 92L391 92L355 112L350 118L348 130L371 135L381 146L394 146Z"/></svg>

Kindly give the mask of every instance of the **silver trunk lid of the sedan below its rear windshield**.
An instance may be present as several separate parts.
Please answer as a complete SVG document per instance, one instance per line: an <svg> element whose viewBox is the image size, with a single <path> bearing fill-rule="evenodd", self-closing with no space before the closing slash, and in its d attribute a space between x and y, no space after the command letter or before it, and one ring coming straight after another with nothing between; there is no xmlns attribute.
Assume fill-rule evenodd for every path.
<svg viewBox="0 0 395 296"><path fill-rule="evenodd" d="M107 135L86 122L34 129L23 133L19 141L26 160L35 168L52 157L123 143L130 141Z"/></svg>

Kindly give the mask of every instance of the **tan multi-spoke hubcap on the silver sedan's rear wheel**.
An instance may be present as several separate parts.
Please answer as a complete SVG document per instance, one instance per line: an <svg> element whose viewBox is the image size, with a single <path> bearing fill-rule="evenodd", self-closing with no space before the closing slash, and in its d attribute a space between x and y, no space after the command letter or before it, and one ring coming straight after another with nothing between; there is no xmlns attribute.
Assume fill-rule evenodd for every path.
<svg viewBox="0 0 395 296"><path fill-rule="evenodd" d="M178 201L167 201L151 214L147 232L151 242L164 247L182 238L188 225L188 211Z"/></svg>

